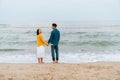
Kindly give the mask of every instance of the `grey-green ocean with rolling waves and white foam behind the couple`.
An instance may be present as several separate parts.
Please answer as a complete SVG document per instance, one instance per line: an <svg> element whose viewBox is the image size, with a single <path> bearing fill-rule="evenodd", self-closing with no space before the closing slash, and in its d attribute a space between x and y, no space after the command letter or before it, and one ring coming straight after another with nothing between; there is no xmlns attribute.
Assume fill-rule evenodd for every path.
<svg viewBox="0 0 120 80"><path fill-rule="evenodd" d="M0 24L0 62L37 63L36 30L41 28L48 41L51 24ZM61 63L120 61L119 24L58 23L61 32ZM45 47L45 62L51 62L50 46Z"/></svg>

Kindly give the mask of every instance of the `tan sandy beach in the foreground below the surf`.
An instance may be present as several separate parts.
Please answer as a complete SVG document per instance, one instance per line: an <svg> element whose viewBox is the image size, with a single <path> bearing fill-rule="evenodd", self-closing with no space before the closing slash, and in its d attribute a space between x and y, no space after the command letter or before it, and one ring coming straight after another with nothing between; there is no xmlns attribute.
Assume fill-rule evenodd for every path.
<svg viewBox="0 0 120 80"><path fill-rule="evenodd" d="M120 80L120 62L0 64L0 80Z"/></svg>

